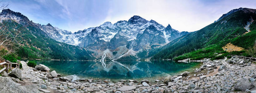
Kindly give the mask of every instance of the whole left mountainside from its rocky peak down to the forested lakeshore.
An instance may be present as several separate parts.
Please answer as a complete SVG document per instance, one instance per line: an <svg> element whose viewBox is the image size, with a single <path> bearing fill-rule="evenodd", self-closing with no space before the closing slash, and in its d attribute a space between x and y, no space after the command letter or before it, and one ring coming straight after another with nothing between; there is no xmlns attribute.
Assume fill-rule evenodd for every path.
<svg viewBox="0 0 256 93"><path fill-rule="evenodd" d="M1 21L8 24L9 29L25 27L22 32L24 42L17 54L22 58L32 59L62 59L62 60L90 60L94 59L93 52L85 48L72 46L63 42L57 42L50 38L41 24L30 21L19 12L9 9L2 10ZM13 21L12 21L13 20ZM15 26L18 25L18 26Z"/></svg>

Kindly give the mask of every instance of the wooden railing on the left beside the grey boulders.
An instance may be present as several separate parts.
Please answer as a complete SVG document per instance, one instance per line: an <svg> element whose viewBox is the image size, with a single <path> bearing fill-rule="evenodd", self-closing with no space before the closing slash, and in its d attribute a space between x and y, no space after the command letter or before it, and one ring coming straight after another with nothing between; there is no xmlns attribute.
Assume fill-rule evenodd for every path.
<svg viewBox="0 0 256 93"><path fill-rule="evenodd" d="M3 68L0 70L0 73L2 72L2 71L4 71L4 70L6 70L6 72L7 73L9 73L9 71L11 71L12 70L12 64L15 64L16 66L15 66L15 68L13 68L13 69L16 69L16 68L20 68L20 64L18 64L18 63L12 63L12 62L10 62L9 60L5 60L5 59L2 59L4 62L2 62L2 63L0 63L0 65L2 65L3 66ZM2 61L1 60L1 61Z"/></svg>

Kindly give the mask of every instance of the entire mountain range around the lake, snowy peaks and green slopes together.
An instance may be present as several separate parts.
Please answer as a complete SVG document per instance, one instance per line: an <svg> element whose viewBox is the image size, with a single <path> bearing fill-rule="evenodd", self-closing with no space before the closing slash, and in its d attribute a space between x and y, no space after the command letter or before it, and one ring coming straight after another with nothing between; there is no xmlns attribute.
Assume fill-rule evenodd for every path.
<svg viewBox="0 0 256 93"><path fill-rule="evenodd" d="M26 42L18 52L21 57L121 60L153 56L152 59L171 59L243 35L255 22L255 9L231 10L214 23L191 33L179 32L170 24L164 27L154 20L145 20L137 15L128 21L121 20L114 24L105 22L75 33L51 24L33 23L26 16L10 9L2 10L0 17L1 20L14 20L20 25L27 25L23 32Z"/></svg>

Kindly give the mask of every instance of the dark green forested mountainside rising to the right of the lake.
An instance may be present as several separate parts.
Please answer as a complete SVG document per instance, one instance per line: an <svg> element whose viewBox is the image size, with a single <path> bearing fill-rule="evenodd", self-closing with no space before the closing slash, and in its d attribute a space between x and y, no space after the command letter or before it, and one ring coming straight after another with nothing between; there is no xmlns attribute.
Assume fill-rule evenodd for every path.
<svg viewBox="0 0 256 93"><path fill-rule="evenodd" d="M228 43L248 49L253 47L256 40L255 20L255 9L239 8L232 10L229 15L221 17L220 20L203 29L191 32L161 47L152 59L172 59L179 55L181 56L175 60L219 58L232 54L232 52L227 53L222 49ZM233 54L241 55L242 52ZM219 54L224 55L218 56Z"/></svg>

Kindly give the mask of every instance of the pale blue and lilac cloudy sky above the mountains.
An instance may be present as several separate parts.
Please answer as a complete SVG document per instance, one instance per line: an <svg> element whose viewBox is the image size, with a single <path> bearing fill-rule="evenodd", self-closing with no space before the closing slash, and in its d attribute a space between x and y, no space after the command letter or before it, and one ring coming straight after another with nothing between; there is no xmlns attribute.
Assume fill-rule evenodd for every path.
<svg viewBox="0 0 256 93"><path fill-rule="evenodd" d="M39 24L71 31L139 15L178 31L197 31L232 9L256 9L256 0L3 0Z"/></svg>

